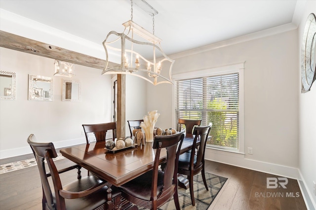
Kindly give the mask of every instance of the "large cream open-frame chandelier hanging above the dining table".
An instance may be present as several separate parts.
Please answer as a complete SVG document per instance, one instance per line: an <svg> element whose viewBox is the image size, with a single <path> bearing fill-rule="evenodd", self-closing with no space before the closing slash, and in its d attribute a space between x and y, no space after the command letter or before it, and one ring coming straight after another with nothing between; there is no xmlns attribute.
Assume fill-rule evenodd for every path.
<svg viewBox="0 0 316 210"><path fill-rule="evenodd" d="M155 36L154 16L158 11L142 0L151 9L153 33L133 22L133 0L131 0L131 20L123 23L122 33L111 31L103 41L106 53L106 66L101 74L131 74L153 85L172 83L171 70L174 60L162 51L159 39ZM126 34L125 34L126 32ZM109 50L118 52L120 62L109 66ZM112 54L113 55L113 54Z"/></svg>

